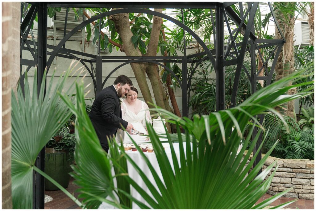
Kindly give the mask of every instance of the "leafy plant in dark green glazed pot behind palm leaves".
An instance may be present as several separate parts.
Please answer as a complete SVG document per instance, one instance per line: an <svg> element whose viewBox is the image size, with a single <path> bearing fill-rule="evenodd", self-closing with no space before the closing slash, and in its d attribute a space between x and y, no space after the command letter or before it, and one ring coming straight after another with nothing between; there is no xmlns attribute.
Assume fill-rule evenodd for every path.
<svg viewBox="0 0 316 211"><path fill-rule="evenodd" d="M71 120L71 117L70 117ZM69 121L70 122L70 121ZM67 123L65 124L67 125ZM70 182L70 165L74 162L73 154L76 145L76 136L69 127L62 127L46 144L45 173L51 176L64 188ZM45 180L46 191L59 190L49 180Z"/></svg>

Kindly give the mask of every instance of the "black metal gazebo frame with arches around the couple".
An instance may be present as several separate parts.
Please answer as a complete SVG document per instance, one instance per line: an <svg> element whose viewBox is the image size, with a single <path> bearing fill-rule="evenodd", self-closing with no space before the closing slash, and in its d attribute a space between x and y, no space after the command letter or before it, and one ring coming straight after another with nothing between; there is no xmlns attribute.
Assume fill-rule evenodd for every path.
<svg viewBox="0 0 316 211"><path fill-rule="evenodd" d="M279 53L281 51L281 48L283 47L283 44L285 43L285 38L282 34L282 31L280 30L279 26L276 26L282 36L282 39L276 40L264 40L264 39L258 39L254 34L254 17L256 14L256 10L258 8L258 2L248 2L248 9L245 11L245 14L243 12L243 5L241 2L239 2L239 8L240 8L240 16L234 12L234 10L230 7L233 4L236 4L238 2L224 2L224 3L217 3L217 2L108 2L108 3L101 3L101 2L92 2L92 3L73 3L73 2L66 2L66 3L46 3L46 2L37 2L33 3L32 6L28 9L23 21L21 21L21 46L20 46L20 54L21 54L21 72L22 72L22 65L28 66L27 71L32 66L37 66L37 74L38 74L38 92L40 92L40 84L43 79L43 73L47 66L47 71L49 70L50 66L52 65L53 59L58 57L63 58L69 58L69 59L75 59L79 60L83 66L88 70L90 76L93 80L94 85L94 94L98 94L102 89L104 84L106 83L107 79L111 76L112 73L114 73L117 69L120 67L133 63L133 62L151 62L155 63L157 65L163 66L167 71L169 71L173 76L178 80L181 88L182 88L182 105L183 105L183 116L188 117L189 112L189 93L190 93L190 86L191 86L191 78L196 71L197 67L201 64L201 62L205 60L210 60L213 67L215 67L215 73L216 73L216 110L222 110L225 109L225 66L230 65L237 65L235 77L234 77L234 83L233 83L233 92L232 92L232 98L230 102L230 107L235 106L236 102L236 96L237 96L237 87L239 83L239 77L242 70L246 71L246 74L251 82L251 93L253 94L256 92L257 89L257 80L265 80L266 84L271 83L271 79L273 76L274 68L276 66L276 61L279 56ZM273 19L275 19L275 15L273 13L273 9L270 3L268 3L270 11L272 13ZM47 45L47 8L48 7L65 7L65 8L123 8L123 9L117 9L108 11L105 13L98 14L96 16L91 17L88 20L84 20L81 24L76 26L73 30L68 32L66 34L66 30L64 30L64 37L58 43L57 46L53 45ZM179 20L176 20L166 14L158 13L155 11L143 9L143 8L178 8L178 9L190 9L190 8L201 8L201 9L211 9L211 13L213 13L212 9L215 9L215 20L213 20L212 15L212 25L213 27L213 36L214 36L214 49L209 49L206 44L202 41L202 39L197 36L190 28L185 26L183 22L180 22ZM21 8L22 9L22 8ZM186 55L185 51L185 40L184 40L184 55L183 56L155 56L155 57L147 57L147 56L100 56L100 42L99 42L99 53L98 55L83 53L81 51L75 51L71 49L65 48L66 41L78 30L81 30L83 27L85 27L87 24L90 24L94 20L101 19L105 16L109 16L112 14L118 14L118 13L145 13L145 14L152 14L155 16L162 17L166 20L170 20L176 25L183 28L184 31L189 33L193 38L196 39L196 41L201 45L201 47L204 49L204 52L197 53L197 54L191 54ZM30 33L30 29L33 23L33 20L36 16L36 13L38 13L38 40L35 42L34 40L27 40L27 36ZM65 27L67 25L67 15L68 12L66 12L66 20L65 20ZM235 34L233 35L234 31L232 32L229 23L228 18L234 21L236 25L239 27L237 28L237 31L235 31ZM245 20L247 20L247 24L245 24ZM101 21L100 21L101 23ZM215 23L215 24L214 24ZM225 38L224 38L224 27L225 23L228 26L228 32L229 37L231 40L231 43L228 43L227 46L225 46ZM215 29L214 29L215 28ZM101 27L99 27L99 32L101 30ZM243 41L240 43L236 43L236 37L238 34L243 35ZM100 36L100 33L99 33ZM185 36L184 36L185 39ZM261 45L258 45L258 43L261 43ZM262 44L264 43L264 44ZM26 45L26 46L25 46ZM268 56L267 60L263 60L262 54L260 53L261 48L267 48L267 47L273 47L274 50L272 53ZM238 48L240 47L240 48ZM231 48L234 49L233 52L230 52ZM52 49L53 51L47 52L47 49ZM30 51L34 60L26 60L22 59L22 51L27 50ZM225 53L226 50L226 53ZM256 69L256 51L258 51L258 54L263 61L262 68L257 71ZM251 71L249 72L246 67L243 65L244 58L246 52L249 52L250 54L250 61L251 61ZM50 55L49 59L47 60L47 55ZM84 56L85 58L90 59L82 59L78 56ZM195 57L202 57L202 59L196 59ZM231 57L232 59L226 60L227 57ZM274 59L272 61L272 64L270 66L270 71L268 71L268 61L270 58L274 56ZM106 79L102 82L102 63L106 62L124 62L123 64L116 67L114 70L110 72L110 74L106 77ZM167 67L164 66L163 62L179 62L182 63L182 82L179 80L179 78ZM89 69L87 63L90 63L91 70ZM94 63L96 63L96 68L94 70ZM191 72L188 72L188 63L191 63ZM194 67L195 65L195 67ZM94 75L94 71L96 72L96 75ZM265 72L265 76L258 76L260 71ZM20 78L21 87L23 88L23 74ZM263 122L263 116L259 116L260 123ZM257 130L255 130L253 135L256 135ZM258 151L258 146L261 144L261 136L258 140L258 143L254 149L254 153ZM256 165L261 159L261 152L259 152L259 155L256 158L256 161L254 165ZM45 165L45 149L43 149L36 161L36 166L42 170L44 170ZM33 208L44 208L44 178L37 174L35 175L36 180L34 182L34 200L33 200Z"/></svg>

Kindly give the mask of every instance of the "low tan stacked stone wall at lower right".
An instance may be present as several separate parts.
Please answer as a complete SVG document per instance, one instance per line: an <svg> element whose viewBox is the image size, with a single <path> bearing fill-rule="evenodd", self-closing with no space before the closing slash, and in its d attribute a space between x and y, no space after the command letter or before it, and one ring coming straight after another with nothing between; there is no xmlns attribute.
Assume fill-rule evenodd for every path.
<svg viewBox="0 0 316 211"><path fill-rule="evenodd" d="M267 193L276 195L284 190L293 188L284 197L314 200L314 160L280 159L269 156L264 163L263 169L275 161L278 167ZM275 168L272 168L269 176L274 170Z"/></svg>

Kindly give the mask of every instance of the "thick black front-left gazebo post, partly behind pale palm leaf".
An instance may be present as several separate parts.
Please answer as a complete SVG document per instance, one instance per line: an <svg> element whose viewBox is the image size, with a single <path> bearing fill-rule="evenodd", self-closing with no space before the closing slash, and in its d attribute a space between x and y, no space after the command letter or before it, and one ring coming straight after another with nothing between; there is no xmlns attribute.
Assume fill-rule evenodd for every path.
<svg viewBox="0 0 316 211"><path fill-rule="evenodd" d="M40 94L40 86L43 80L46 68L47 54L47 5L39 3L38 12L38 66L37 66L37 83L38 95ZM45 88L46 89L46 88ZM42 171L45 170L45 147L40 151L36 159L36 167ZM39 173L35 173L35 196L33 208L44 209L44 189L45 179Z"/></svg>

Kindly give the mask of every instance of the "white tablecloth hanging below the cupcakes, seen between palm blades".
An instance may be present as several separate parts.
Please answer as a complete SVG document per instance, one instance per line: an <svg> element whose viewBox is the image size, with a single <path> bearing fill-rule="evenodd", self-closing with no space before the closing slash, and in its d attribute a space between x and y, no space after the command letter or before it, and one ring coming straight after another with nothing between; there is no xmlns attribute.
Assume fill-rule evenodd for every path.
<svg viewBox="0 0 316 211"><path fill-rule="evenodd" d="M169 143L163 143L162 144L165 147L165 152L167 154L167 157L169 159L169 162L173 168L173 162L172 162L172 155L171 155L171 150L170 150L170 145ZM192 143L191 143L192 146ZM183 147L184 150L186 149L186 143L183 143ZM180 154L179 154L179 143L173 143L173 148L175 150L175 154L178 158L178 162L180 163ZM145 173L145 175L148 177L148 179L152 182L152 184L157 188L157 185L155 183L155 180L153 178L153 175L151 174L147 164L145 163L143 157L140 155L140 153L138 151L125 151L130 157L131 159L133 159L133 161L135 163L137 163L138 167ZM160 179L162 180L162 175L161 175L161 171L159 168L159 163L157 161L156 155L154 152L144 152L144 154L146 155L146 157L148 158L149 162L153 165L153 167L155 168L157 174L159 175ZM146 191L150 196L151 193L150 191L147 189L147 185L144 183L144 181L142 180L142 178L140 177L140 175L137 173L137 171L135 170L135 168L131 165L130 162L127 161L127 168L128 168L128 174L129 176L135 181L137 182L137 184L143 188L144 191ZM114 170L112 169L112 174L114 175ZM116 184L116 181L114 181L114 183ZM132 196L135 197L137 200L141 201L141 202L145 202L143 200L143 198L140 196L140 194L134 189L131 189L132 191ZM110 198L107 198L110 200ZM147 206L148 203L145 203ZM109 205L107 203L102 203L99 207L99 209L114 209L114 207L112 205ZM133 202L133 209L139 209L139 207Z"/></svg>

